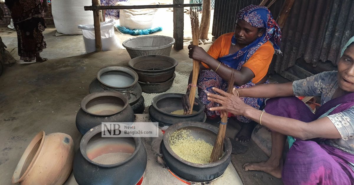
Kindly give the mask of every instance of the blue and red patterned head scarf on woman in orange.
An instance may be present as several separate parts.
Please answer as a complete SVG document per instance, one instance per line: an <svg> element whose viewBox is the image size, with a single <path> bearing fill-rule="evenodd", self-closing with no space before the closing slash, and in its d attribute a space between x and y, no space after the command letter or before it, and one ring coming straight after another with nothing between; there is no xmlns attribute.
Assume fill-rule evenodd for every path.
<svg viewBox="0 0 354 185"><path fill-rule="evenodd" d="M250 5L239 11L236 18L243 19L253 27L264 28L264 33L258 37L250 45L260 47L267 41L273 43L274 50L277 53L280 51L281 31L278 23L273 19L272 13L265 6ZM236 44L235 36L232 38L232 44ZM257 49L258 49L257 48Z"/></svg>

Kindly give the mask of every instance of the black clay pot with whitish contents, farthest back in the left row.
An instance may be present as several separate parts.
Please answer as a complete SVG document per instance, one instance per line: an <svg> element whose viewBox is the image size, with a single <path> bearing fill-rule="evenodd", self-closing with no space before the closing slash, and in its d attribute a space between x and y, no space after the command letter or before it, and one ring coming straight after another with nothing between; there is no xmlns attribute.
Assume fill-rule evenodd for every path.
<svg viewBox="0 0 354 185"><path fill-rule="evenodd" d="M128 97L130 105L134 105L142 93L138 74L125 66L106 66L99 69L96 79L93 79L89 86L89 91L90 93L118 91Z"/></svg>

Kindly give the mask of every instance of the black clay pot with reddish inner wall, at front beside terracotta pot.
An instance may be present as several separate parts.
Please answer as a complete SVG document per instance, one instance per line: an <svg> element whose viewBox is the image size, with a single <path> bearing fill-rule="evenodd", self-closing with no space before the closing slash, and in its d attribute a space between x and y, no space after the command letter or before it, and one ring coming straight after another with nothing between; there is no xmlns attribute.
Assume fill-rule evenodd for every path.
<svg viewBox="0 0 354 185"><path fill-rule="evenodd" d="M79 185L135 185L142 178L147 164L144 144L138 137L102 137L101 125L87 132L76 152L73 173ZM94 162L97 156L109 153L131 153L116 164ZM112 157L103 158L109 161Z"/></svg>

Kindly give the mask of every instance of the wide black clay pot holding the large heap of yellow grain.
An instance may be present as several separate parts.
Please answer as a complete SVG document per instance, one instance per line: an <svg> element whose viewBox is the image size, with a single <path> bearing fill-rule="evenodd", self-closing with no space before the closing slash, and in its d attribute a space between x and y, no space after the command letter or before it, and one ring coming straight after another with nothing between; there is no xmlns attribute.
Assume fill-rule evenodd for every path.
<svg viewBox="0 0 354 185"><path fill-rule="evenodd" d="M218 128L202 122L182 122L169 127L161 142L160 152L170 170L183 179L194 182L207 182L220 177L231 161L232 145L229 138L224 140L224 155L218 161L195 164L180 158L170 147L169 138L174 131L187 130L196 140L202 139L214 145Z"/></svg>

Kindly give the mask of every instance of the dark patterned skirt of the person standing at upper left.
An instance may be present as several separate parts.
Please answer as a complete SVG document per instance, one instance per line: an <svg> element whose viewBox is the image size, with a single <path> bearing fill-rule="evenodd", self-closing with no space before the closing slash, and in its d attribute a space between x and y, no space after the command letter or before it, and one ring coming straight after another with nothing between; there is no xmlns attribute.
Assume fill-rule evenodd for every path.
<svg viewBox="0 0 354 185"><path fill-rule="evenodd" d="M18 55L21 60L32 61L47 47L43 31L47 27L43 18L31 18L14 23L17 32Z"/></svg>

